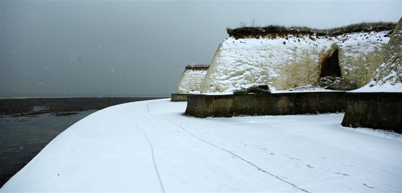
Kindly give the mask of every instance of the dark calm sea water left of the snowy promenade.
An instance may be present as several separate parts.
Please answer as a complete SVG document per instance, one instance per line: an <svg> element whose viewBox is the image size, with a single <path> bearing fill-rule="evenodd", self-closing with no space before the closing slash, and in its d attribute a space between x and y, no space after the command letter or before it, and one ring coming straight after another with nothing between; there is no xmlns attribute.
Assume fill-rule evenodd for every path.
<svg viewBox="0 0 402 193"><path fill-rule="evenodd" d="M0 100L1 112L8 112L12 109L10 110L11 113L0 114L0 187L34 158L58 134L75 122L96 112L97 110L95 109L150 99L155 98ZM92 107L91 105L86 107L91 110L82 110L82 106L84 104L88 105L88 101L94 104ZM26 108L27 104L32 104L32 106L27 108L26 112L23 112L21 109ZM64 108L63 106L67 107ZM74 108L77 110L71 111ZM43 111L46 113L37 113L44 109L47 109ZM49 112L49 109L56 110ZM81 111L78 111L78 109Z"/></svg>

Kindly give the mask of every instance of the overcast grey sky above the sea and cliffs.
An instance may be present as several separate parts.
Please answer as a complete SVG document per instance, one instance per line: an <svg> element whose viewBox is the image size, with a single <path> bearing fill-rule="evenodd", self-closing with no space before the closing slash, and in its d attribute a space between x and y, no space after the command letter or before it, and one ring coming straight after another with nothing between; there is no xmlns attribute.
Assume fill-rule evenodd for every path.
<svg viewBox="0 0 402 193"><path fill-rule="evenodd" d="M169 96L226 28L397 22L401 1L1 1L1 97Z"/></svg>

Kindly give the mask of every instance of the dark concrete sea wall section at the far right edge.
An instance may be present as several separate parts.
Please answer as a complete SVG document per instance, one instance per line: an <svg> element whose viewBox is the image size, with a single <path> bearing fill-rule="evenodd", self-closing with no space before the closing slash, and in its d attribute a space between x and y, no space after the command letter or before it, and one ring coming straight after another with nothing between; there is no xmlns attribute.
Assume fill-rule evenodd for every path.
<svg viewBox="0 0 402 193"><path fill-rule="evenodd" d="M402 133L402 93L346 93L342 126Z"/></svg>

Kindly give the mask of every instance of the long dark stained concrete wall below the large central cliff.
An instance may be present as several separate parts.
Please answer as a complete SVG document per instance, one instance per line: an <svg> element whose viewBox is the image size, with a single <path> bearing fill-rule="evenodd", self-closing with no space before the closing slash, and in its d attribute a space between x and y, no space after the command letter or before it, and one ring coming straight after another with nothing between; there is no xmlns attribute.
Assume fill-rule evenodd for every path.
<svg viewBox="0 0 402 193"><path fill-rule="evenodd" d="M345 92L250 93L187 96L186 115L231 117L236 115L295 115L335 113L345 110Z"/></svg>

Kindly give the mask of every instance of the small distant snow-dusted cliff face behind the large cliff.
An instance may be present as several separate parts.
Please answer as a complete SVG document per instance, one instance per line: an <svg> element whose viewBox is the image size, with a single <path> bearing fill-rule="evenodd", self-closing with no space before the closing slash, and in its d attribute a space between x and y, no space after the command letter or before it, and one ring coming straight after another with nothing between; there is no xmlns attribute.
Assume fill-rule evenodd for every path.
<svg viewBox="0 0 402 193"><path fill-rule="evenodd" d="M190 67L186 68L181 75L177 85L177 93L194 93L199 92L200 85L207 74L208 67Z"/></svg>

